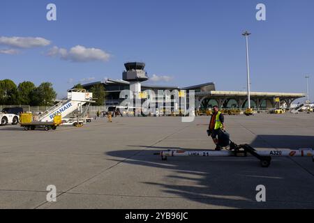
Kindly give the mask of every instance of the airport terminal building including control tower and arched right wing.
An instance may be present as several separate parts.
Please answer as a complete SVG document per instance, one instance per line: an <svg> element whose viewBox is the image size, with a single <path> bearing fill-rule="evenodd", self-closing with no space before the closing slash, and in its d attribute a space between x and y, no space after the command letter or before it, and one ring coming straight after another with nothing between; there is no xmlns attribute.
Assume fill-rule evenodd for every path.
<svg viewBox="0 0 314 223"><path fill-rule="evenodd" d="M122 79L106 79L103 82L84 84L84 89L90 90L96 84L103 84L106 91L106 106L119 106L124 100L119 98L123 90L131 90L135 93L151 90L156 95L158 90L177 90L186 93L194 90L197 109L208 109L214 105L218 105L221 109L245 109L247 107L246 91L217 91L214 82L186 87L149 85L145 84L149 77L144 70L144 63L132 62L126 63L124 66L126 70L122 74ZM290 109L294 100L305 96L304 93L251 92L251 106L256 110L274 109L278 105L285 105L287 109ZM158 98L156 98L156 102L157 100ZM172 104L175 103L172 102Z"/></svg>

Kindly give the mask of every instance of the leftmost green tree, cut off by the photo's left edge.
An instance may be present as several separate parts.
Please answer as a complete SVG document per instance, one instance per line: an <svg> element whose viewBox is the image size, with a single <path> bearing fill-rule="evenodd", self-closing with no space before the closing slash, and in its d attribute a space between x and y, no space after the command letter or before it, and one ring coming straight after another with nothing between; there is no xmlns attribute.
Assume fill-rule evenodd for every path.
<svg viewBox="0 0 314 223"><path fill-rule="evenodd" d="M17 105L17 86L10 79L0 81L0 104L1 105Z"/></svg>

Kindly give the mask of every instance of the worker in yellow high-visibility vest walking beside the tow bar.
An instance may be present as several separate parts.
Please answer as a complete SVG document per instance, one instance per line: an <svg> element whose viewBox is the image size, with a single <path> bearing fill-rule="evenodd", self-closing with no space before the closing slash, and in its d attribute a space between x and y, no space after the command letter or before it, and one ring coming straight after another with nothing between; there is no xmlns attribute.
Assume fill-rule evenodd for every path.
<svg viewBox="0 0 314 223"><path fill-rule="evenodd" d="M216 151L220 151L223 148L218 144L218 134L221 131L225 131L225 117L221 112L219 112L218 106L213 107L213 114L211 115L211 121L209 123L209 134L216 144Z"/></svg>

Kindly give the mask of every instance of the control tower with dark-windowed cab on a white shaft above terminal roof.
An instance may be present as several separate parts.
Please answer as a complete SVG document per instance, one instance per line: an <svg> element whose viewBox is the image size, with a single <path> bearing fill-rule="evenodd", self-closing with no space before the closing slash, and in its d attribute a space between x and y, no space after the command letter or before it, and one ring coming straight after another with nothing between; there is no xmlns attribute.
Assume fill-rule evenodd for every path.
<svg viewBox="0 0 314 223"><path fill-rule="evenodd" d="M126 70L122 73L122 79L130 82L130 91L133 91L135 97L142 91L141 82L147 81L147 72L144 70L145 63L130 62L125 63Z"/></svg>

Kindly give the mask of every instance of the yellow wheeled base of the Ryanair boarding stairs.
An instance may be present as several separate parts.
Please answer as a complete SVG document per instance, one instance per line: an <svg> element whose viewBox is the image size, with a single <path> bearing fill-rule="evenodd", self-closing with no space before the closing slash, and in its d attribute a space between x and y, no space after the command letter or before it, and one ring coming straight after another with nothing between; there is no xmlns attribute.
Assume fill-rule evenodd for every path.
<svg viewBox="0 0 314 223"><path fill-rule="evenodd" d="M57 126L61 125L62 118L61 114L54 116L53 121L33 121L33 114L23 113L20 115L20 125L24 127L24 130L35 130L38 127L43 127L46 131L56 130Z"/></svg>

